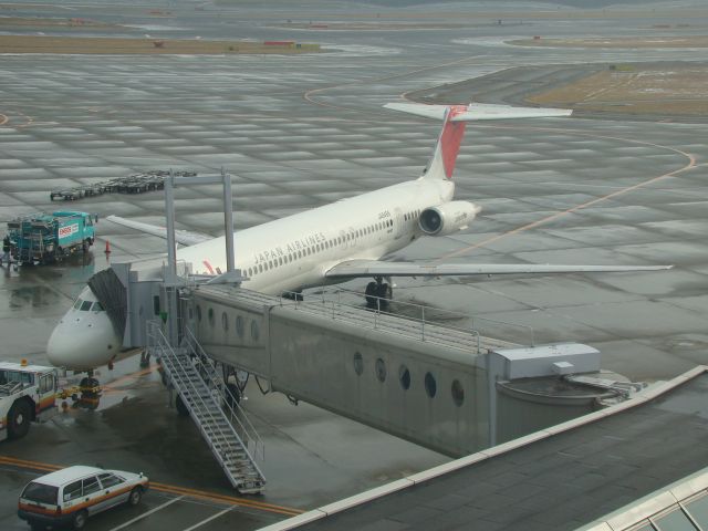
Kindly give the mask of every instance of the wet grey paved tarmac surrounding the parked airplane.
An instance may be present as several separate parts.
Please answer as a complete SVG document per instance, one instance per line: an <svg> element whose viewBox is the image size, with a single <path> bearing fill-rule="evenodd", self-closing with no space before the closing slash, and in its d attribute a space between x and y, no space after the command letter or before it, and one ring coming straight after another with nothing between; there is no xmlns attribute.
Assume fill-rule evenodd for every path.
<svg viewBox="0 0 708 531"><path fill-rule="evenodd" d="M104 13L131 22L132 29L122 30L126 35L223 38L237 31L261 40L291 38L294 30L271 27L267 8L195 12L175 4L170 17L156 20L142 6L119 12L90 2L73 6L71 15ZM314 18L314 9L301 15ZM358 9L362 18L375 14ZM27 4L13 15L38 10L63 12ZM226 168L235 177L237 229L415 178L439 124L388 112L383 104L519 65L704 59L700 49L504 44L528 34L646 34L646 27L645 20L539 19L470 30L300 30L298 41L320 42L327 53L298 56L6 55L0 63L0 221L75 208L162 225L159 191L49 200L51 189L148 169L209 174ZM684 30L662 30L674 31ZM539 83L496 77L500 90L485 88L494 97L502 84ZM392 259L675 267L636 274L402 279L394 296L473 314L486 335L528 343L527 326L532 326L537 343L591 344L602 351L603 368L635 381L667 379L706 364L707 129L705 122L670 117L470 126L458 159L456 197L480 204L483 211L468 230L418 240ZM217 236L222 223L218 192L218 187L179 189L178 228ZM97 230L87 257L0 274L3 360L45 363L54 324L93 273L111 261L165 251L163 240L107 221ZM365 282L345 287L363 291ZM165 486L138 508L92 519L91 529L127 523L129 529L246 530L447 461L305 404L261 396L251 386L247 404L266 439L269 483L264 496L237 500L194 426L167 406L155 367L140 369L133 357L102 371L100 378L106 389L97 409L69 408L46 425L32 426L25 439L2 442L0 528L27 529L14 500L24 482L52 467L101 464L144 471Z"/></svg>

